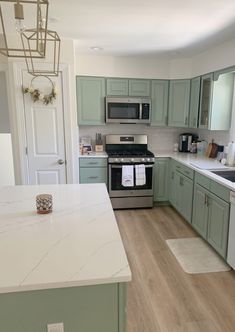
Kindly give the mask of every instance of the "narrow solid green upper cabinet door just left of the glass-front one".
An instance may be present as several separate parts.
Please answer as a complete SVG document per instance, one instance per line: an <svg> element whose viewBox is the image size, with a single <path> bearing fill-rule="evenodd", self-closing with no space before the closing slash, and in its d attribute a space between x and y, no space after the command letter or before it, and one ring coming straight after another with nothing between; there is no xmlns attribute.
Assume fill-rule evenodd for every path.
<svg viewBox="0 0 235 332"><path fill-rule="evenodd" d="M195 77L191 80L190 105L189 105L190 128L197 128L198 126L200 86L201 86L201 77Z"/></svg>

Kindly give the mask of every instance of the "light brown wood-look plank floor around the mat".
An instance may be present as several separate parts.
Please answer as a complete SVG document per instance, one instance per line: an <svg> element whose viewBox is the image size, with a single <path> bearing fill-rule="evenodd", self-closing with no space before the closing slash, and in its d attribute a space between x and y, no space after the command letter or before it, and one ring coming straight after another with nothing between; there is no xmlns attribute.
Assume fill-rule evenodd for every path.
<svg viewBox="0 0 235 332"><path fill-rule="evenodd" d="M171 207L115 211L132 270L127 332L235 332L235 271L187 274L165 240L197 234Z"/></svg>

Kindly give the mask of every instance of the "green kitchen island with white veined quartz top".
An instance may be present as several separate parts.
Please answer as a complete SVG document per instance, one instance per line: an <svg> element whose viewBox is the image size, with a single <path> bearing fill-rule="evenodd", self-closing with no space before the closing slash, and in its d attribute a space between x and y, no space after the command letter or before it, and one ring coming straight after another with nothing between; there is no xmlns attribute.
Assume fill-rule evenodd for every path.
<svg viewBox="0 0 235 332"><path fill-rule="evenodd" d="M0 267L0 331L125 331L131 271L104 184L0 187Z"/></svg>

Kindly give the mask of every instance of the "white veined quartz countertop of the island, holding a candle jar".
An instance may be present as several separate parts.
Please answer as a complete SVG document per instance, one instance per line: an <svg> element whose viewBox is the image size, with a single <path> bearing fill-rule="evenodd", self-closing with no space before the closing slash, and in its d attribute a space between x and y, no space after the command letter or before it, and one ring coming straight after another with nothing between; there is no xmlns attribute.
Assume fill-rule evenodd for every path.
<svg viewBox="0 0 235 332"><path fill-rule="evenodd" d="M40 193L52 213L36 213ZM130 281L106 186L0 187L0 271L0 293Z"/></svg>

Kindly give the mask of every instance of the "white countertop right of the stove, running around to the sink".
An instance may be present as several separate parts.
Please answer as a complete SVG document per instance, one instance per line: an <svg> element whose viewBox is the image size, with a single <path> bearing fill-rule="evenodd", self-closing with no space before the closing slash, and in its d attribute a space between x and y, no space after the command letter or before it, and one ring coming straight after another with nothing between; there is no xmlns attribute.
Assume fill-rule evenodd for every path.
<svg viewBox="0 0 235 332"><path fill-rule="evenodd" d="M235 170L235 167L223 167L220 162L212 158L199 156L196 153L183 153L183 152L170 152L170 151L152 151L154 156L157 158L172 158L190 168L197 171L198 173L205 175L212 180L224 185L225 187L235 191L235 183L222 178L211 172L211 170ZM197 166L195 166L197 165ZM207 168L207 169L206 169Z"/></svg>

